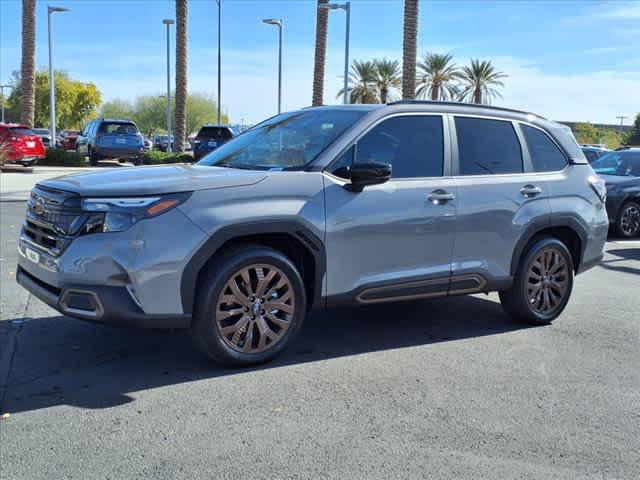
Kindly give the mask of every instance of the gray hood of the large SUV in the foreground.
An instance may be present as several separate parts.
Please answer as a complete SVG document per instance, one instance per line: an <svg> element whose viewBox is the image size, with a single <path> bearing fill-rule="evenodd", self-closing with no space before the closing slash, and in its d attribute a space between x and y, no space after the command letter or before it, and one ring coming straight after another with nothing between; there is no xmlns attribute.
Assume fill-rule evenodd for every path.
<svg viewBox="0 0 640 480"><path fill-rule="evenodd" d="M134 196L240 187L262 181L266 172L188 164L121 167L65 175L39 186L82 196Z"/></svg>

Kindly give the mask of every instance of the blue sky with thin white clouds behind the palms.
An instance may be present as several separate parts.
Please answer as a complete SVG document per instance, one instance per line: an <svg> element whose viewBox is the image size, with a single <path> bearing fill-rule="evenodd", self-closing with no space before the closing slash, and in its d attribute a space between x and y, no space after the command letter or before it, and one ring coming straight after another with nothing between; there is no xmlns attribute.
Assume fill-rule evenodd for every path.
<svg viewBox="0 0 640 480"><path fill-rule="evenodd" d="M54 65L93 82L103 100L166 90L163 18L171 0L51 0ZM284 20L283 110L311 103L315 0L222 0L222 105L234 123L277 109L277 28ZM48 65L47 2L36 11L36 64ZM401 59L401 0L352 0L351 58ZM345 15L329 14L325 103L344 68ZM21 1L0 0L0 83L20 68ZM172 30L172 50L175 45ZM616 123L640 111L640 0L421 0L418 56L451 53L464 65L489 59L508 75L495 105L555 120ZM172 75L174 62L172 52ZM189 1L188 88L216 95L215 0Z"/></svg>

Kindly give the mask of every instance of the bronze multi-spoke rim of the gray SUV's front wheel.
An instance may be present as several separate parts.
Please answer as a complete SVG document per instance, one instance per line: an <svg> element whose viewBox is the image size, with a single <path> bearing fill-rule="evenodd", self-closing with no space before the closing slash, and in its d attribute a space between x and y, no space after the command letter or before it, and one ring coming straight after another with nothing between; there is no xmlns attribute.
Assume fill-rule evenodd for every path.
<svg viewBox="0 0 640 480"><path fill-rule="evenodd" d="M282 340L294 313L289 277L273 265L254 264L231 275L220 291L215 324L233 350L260 353Z"/></svg>

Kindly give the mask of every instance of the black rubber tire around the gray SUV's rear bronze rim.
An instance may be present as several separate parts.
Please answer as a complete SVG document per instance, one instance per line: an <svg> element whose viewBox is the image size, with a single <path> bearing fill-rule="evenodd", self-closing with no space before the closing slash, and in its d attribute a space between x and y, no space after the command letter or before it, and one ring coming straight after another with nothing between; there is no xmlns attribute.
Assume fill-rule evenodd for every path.
<svg viewBox="0 0 640 480"><path fill-rule="evenodd" d="M551 275L549 272L541 272L536 267L536 265L540 265L539 257L543 255L544 252L556 253L560 255L561 258L553 258L557 259L559 264L564 262L565 267L563 267L562 270L564 275L558 276L564 288L561 294L559 294L561 290L555 287L555 285L558 284L556 277L554 276L553 279L550 280L549 277L551 277ZM516 321L530 325L549 324L562 313L569 302L571 291L573 290L574 272L573 257L564 243L555 237L535 237L520 259L511 288L500 292L502 307L505 312ZM537 273L540 274L540 287L530 282ZM532 293L534 299L531 299L530 289L531 292L541 291L540 296ZM547 293L544 293L545 289ZM548 301L549 304L551 304L550 295L555 299L555 296L558 294L559 299L556 304L553 305L553 308L545 311L545 302ZM538 303L538 299L540 304ZM538 306L539 308L537 308Z"/></svg>

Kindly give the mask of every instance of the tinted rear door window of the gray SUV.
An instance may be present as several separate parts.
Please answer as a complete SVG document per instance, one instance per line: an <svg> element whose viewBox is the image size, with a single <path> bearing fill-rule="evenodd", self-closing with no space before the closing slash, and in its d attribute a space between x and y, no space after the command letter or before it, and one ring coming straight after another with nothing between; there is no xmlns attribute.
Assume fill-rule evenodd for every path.
<svg viewBox="0 0 640 480"><path fill-rule="evenodd" d="M521 173L522 152L511 122L456 117L460 175Z"/></svg>

